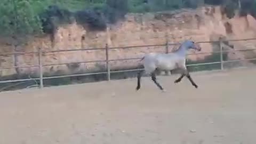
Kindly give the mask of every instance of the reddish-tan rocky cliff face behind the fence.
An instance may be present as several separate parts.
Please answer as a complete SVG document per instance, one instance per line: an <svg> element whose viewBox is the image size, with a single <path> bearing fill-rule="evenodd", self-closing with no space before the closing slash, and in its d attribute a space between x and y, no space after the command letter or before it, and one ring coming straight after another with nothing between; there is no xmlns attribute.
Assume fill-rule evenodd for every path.
<svg viewBox="0 0 256 144"><path fill-rule="evenodd" d="M220 7L205 6L196 10L179 10L172 12L127 14L125 20L108 26L106 31L91 31L73 23L58 29L54 38L50 36L31 39L27 44L20 46L23 52L37 51L41 47L43 51L66 49L90 49L95 47L122 47L131 45L164 44L181 42L192 37L194 41L216 41L219 38L245 39L256 37L256 20L251 16L234 17L228 19L221 13ZM226 50L253 48L256 41L241 41L226 43ZM0 39L0 53L13 52L13 47ZM170 51L178 46L170 46ZM215 44L201 44L203 52L211 52L218 49ZM147 52L165 52L165 46L142 47L134 49L110 50L109 59L137 58ZM189 59L204 59L209 54L191 56ZM229 59L244 59L254 56L254 52L230 52ZM44 53L43 64L69 63L88 60L105 60L105 51L75 51L60 53ZM19 66L37 65L37 54L18 55ZM111 69L137 67L138 60L113 61ZM248 62L244 62L244 65ZM0 56L0 67L14 66L14 58L11 55ZM95 71L105 68L105 63L82 63L72 65L44 67L45 75L55 73L77 73L79 71ZM21 68L20 73L37 74L38 68ZM15 69L0 70L0 76L13 75Z"/></svg>

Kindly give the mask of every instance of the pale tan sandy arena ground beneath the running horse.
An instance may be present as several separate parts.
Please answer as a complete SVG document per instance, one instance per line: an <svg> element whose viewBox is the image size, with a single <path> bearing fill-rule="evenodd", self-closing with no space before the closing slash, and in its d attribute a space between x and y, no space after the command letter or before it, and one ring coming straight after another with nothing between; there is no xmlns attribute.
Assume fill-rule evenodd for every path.
<svg viewBox="0 0 256 144"><path fill-rule="evenodd" d="M256 69L0 93L1 144L255 144Z"/></svg>

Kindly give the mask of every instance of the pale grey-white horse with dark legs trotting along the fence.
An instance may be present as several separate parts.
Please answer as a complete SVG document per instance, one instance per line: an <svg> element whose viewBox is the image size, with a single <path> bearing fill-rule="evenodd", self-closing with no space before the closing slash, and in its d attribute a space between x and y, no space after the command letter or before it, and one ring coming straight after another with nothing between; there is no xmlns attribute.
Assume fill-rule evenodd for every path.
<svg viewBox="0 0 256 144"><path fill-rule="evenodd" d="M199 45L196 45L193 41L186 40L180 45L179 49L173 53L148 53L141 59L146 74L150 74L152 81L160 90L164 91L163 87L156 81L156 71L171 71L174 69L181 70L181 76L174 83L179 83L181 79L186 76L193 86L198 87L189 75L186 67L186 55L189 49L201 51ZM137 91L140 89L140 78L143 71L144 70L139 71L137 76Z"/></svg>

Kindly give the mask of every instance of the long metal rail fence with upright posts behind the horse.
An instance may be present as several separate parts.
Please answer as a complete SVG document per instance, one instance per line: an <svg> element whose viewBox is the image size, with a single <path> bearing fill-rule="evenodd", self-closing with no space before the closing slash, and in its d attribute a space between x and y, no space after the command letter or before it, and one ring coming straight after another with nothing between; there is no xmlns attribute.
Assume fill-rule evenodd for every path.
<svg viewBox="0 0 256 144"><path fill-rule="evenodd" d="M225 42L235 42L235 41L249 41L249 40L256 40L256 38L250 38L250 39L231 39L231 40L225 40ZM223 42L222 41L208 41L208 42L196 42L198 44L200 43L219 43L219 46L222 47ZM2 69L12 69L12 68L31 68L31 67L38 67L39 68L39 77L37 78L26 78L26 79L15 79L15 80L8 80L8 81L0 81L1 83L12 83L12 82L25 82L25 81L39 81L39 87L43 88L43 80L44 79L53 79L53 78L63 78L63 77L74 77L74 76L88 76L88 75L96 75L96 74L106 74L107 80L110 81L110 75L112 73L122 73L122 72L128 72L128 71L137 71L142 69L128 69L128 70L116 70L111 71L110 68L110 62L111 61L123 61L123 60L139 60L141 58L127 58L127 59L109 59L109 51L113 49L135 49L140 47L150 47L150 46L164 46L165 52L170 53L170 46L171 45L179 45L180 43L169 43L166 41L165 44L157 44L157 45L137 45L137 46L122 46L122 47L109 47L108 44L106 44L105 47L102 48L95 48L95 49L70 49L70 50L55 50L55 51L43 51L41 48L38 48L38 51L36 52L13 52L13 53L0 53L0 57L2 55L14 55L14 54L38 54L38 65L27 65L27 66L17 66L17 67L0 67L0 70ZM42 63L42 54L46 53L58 53L58 52L74 52L74 51L93 51L93 50L105 50L106 51L106 60L95 60L95 61L81 61L81 62L75 62L75 63L95 63L95 62L105 62L106 63L106 71L103 72L97 72L97 73L84 73L84 74L73 74L73 75L61 75L61 76L47 76L45 77L43 75L43 68L46 66L57 66L57 65L68 65L71 63L54 63L54 64L46 64L44 65ZM243 49L243 50L234 50L234 51L253 51L256 49ZM202 65L213 65L213 64L220 64L220 69L223 70L223 64L227 62L235 62L235 61L241 61L241 60L223 60L223 53L230 52L230 51L224 51L222 48L219 51L214 52L201 52L201 53L193 53L189 55L197 55L197 54L209 54L209 53L219 53L220 54L220 60L216 62L204 62L204 63L194 63L187 66L202 66ZM243 60L256 60L256 58L253 59L243 59Z"/></svg>

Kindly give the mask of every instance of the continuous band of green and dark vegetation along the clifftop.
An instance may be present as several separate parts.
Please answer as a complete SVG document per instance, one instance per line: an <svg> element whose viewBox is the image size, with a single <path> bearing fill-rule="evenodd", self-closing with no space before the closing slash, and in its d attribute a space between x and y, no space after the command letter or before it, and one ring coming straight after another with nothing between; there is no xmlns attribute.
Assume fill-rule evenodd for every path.
<svg viewBox="0 0 256 144"><path fill-rule="evenodd" d="M221 5L229 18L239 9L241 15L256 17L256 0L2 0L2 36L54 34L62 24L76 20L93 30L104 30L127 12L156 12L203 4Z"/></svg>

